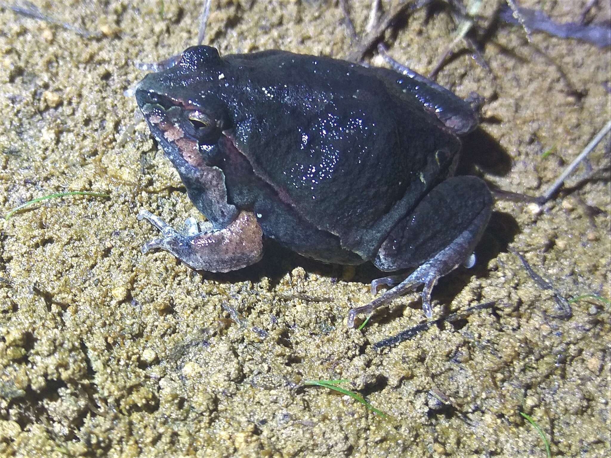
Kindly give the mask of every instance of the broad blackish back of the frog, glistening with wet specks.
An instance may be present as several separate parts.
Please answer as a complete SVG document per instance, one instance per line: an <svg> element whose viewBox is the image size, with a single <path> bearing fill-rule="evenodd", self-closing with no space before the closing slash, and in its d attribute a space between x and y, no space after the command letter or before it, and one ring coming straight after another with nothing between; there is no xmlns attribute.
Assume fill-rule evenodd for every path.
<svg viewBox="0 0 611 458"><path fill-rule="evenodd" d="M365 259L459 147L373 69L284 51L224 59L248 77L233 138L254 172Z"/></svg>

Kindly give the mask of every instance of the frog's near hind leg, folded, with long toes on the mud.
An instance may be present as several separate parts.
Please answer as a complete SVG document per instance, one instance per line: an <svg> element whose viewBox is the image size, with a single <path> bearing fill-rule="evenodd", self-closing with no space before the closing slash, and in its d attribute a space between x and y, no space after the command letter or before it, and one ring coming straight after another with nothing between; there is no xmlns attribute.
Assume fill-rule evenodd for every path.
<svg viewBox="0 0 611 458"><path fill-rule="evenodd" d="M381 271L392 272L419 266L397 286L348 313L353 327L359 313L371 313L378 307L422 285L422 308L427 318L433 316L431 291L437 280L469 259L488 224L492 196L486 184L475 176L456 176L443 181L426 195L411 214L390 231L374 264ZM393 285L397 276L380 278L371 288Z"/></svg>

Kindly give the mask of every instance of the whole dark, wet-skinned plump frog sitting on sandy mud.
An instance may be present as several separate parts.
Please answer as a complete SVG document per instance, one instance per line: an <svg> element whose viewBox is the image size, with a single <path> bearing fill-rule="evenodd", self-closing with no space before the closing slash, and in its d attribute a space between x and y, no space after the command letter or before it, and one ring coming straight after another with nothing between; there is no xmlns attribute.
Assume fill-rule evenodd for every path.
<svg viewBox="0 0 611 458"><path fill-rule="evenodd" d="M477 115L419 75L329 57L263 51L220 57L186 49L137 85L153 136L178 170L207 230L178 233L148 211L161 248L198 270L254 264L263 237L326 263L416 267L365 307L437 280L469 258L492 198L475 176L453 176L459 134ZM403 280L403 281L401 281Z"/></svg>

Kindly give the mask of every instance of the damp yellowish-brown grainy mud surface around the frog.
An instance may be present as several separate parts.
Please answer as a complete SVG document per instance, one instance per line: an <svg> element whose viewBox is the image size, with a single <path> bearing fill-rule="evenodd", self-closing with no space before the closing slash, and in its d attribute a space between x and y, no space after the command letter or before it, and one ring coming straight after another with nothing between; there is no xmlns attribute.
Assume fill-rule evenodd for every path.
<svg viewBox="0 0 611 458"><path fill-rule="evenodd" d="M369 3L350 1L356 30ZM585 0L523 1L560 22ZM609 137L545 205L500 200L477 265L443 278L434 318L419 295L362 330L371 266L327 266L269 244L260 263L194 272L166 252L139 209L174 227L201 218L123 92L197 39L201 4L34 2L84 37L0 7L0 456L602 457L610 447ZM478 65L464 42L436 81L485 98L461 170L541 194L611 116L609 49L478 13ZM382 1L388 11L392 2ZM608 2L587 19L608 21ZM428 73L456 25L447 7L401 15L389 53ZM212 2L205 43L221 54L280 48L346 57L338 2ZM366 62L377 64L371 53ZM545 282L533 280L521 253ZM543 287L542 287L543 285ZM547 285L547 287L546 287ZM584 295L593 295L597 297ZM571 302L573 315L558 299ZM565 307L566 308L566 307ZM387 418L305 380L345 379Z"/></svg>

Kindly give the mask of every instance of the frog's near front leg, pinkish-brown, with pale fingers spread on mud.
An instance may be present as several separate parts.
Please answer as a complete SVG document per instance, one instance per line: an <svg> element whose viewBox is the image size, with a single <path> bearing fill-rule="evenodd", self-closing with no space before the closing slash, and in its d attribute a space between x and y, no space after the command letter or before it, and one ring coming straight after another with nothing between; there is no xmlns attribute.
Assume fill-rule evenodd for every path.
<svg viewBox="0 0 611 458"><path fill-rule="evenodd" d="M137 218L148 220L162 234L161 238L144 244L143 253L161 248L197 271L235 271L256 263L263 256L263 231L255 215L248 211L241 211L220 230L199 231L197 221L188 218L185 234L149 211L141 210Z"/></svg>

